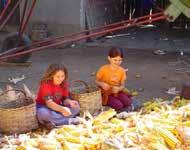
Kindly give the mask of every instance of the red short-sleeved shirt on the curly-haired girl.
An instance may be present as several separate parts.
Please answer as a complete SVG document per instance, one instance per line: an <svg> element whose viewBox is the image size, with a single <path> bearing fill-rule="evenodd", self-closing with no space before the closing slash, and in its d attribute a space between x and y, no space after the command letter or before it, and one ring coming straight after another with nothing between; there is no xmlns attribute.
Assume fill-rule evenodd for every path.
<svg viewBox="0 0 190 150"><path fill-rule="evenodd" d="M68 83L64 86L55 85L52 81L42 83L40 85L36 103L40 105L46 105L47 100L53 100L57 104L69 96Z"/></svg>

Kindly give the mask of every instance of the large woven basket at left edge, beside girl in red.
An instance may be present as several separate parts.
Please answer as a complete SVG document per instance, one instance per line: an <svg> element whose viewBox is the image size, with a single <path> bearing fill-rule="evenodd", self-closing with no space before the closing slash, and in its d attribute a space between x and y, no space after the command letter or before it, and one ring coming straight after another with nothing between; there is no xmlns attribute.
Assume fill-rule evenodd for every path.
<svg viewBox="0 0 190 150"><path fill-rule="evenodd" d="M10 91L10 90L9 90ZM33 99L23 95L16 100L9 100L4 92L0 95L0 129L4 133L24 133L38 128L36 105Z"/></svg>

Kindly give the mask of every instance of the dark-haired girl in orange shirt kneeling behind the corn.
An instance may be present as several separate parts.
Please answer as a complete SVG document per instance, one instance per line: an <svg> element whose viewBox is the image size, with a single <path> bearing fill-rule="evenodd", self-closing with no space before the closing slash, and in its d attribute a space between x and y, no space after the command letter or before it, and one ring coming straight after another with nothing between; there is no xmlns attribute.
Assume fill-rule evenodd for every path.
<svg viewBox="0 0 190 150"><path fill-rule="evenodd" d="M119 48L111 48L108 54L109 64L103 65L96 74L95 82L102 89L103 105L117 111L131 108L132 99L123 92L127 79L126 71L121 67L123 52Z"/></svg>

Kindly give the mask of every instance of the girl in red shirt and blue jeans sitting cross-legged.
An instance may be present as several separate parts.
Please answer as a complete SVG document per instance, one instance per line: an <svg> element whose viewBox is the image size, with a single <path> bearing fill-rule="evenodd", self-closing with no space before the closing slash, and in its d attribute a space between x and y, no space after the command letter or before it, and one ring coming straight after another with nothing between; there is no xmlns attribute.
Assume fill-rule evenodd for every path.
<svg viewBox="0 0 190 150"><path fill-rule="evenodd" d="M67 69L61 64L52 64L41 80L38 91L37 118L46 126L76 123L74 118L80 110L77 101L69 99Z"/></svg>

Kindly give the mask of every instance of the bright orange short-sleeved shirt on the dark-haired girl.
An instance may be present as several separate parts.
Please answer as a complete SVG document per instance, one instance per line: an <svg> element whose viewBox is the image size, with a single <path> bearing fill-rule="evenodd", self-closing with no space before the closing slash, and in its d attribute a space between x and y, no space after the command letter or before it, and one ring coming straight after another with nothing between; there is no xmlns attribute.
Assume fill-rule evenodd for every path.
<svg viewBox="0 0 190 150"><path fill-rule="evenodd" d="M111 86L120 86L126 80L126 72L122 67L116 70L111 70L109 65L102 66L97 74L96 79L103 81Z"/></svg>

